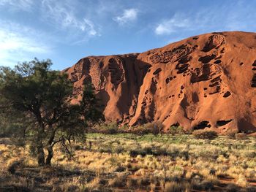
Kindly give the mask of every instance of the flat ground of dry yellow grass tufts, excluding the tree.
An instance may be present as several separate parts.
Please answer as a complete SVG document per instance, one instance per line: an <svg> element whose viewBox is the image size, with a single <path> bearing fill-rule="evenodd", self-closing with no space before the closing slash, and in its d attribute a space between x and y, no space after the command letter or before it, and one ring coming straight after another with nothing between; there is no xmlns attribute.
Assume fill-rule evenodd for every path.
<svg viewBox="0 0 256 192"><path fill-rule="evenodd" d="M0 139L0 191L256 191L256 138L87 134L52 166Z"/></svg>

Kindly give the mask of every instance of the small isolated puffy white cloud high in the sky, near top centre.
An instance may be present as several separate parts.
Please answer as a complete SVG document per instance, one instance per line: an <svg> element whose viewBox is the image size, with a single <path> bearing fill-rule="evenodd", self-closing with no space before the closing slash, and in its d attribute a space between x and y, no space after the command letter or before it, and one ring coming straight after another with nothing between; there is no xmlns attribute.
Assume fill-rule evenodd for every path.
<svg viewBox="0 0 256 192"><path fill-rule="evenodd" d="M118 24L123 25L136 20L138 17L138 9L125 9L123 14L113 18Z"/></svg>

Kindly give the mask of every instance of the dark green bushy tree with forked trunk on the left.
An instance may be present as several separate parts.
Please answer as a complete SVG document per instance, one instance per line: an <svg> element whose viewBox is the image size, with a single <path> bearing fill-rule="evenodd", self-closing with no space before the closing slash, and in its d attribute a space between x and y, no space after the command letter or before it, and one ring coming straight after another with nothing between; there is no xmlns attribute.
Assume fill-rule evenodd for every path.
<svg viewBox="0 0 256 192"><path fill-rule="evenodd" d="M67 74L50 70L51 65L49 59L35 58L14 69L0 69L0 112L12 123L15 118L8 112L22 115L35 141L39 166L50 165L53 146L59 142L69 153L67 143L84 137L86 127L102 118L91 84L85 86L81 101L71 104L72 82Z"/></svg>

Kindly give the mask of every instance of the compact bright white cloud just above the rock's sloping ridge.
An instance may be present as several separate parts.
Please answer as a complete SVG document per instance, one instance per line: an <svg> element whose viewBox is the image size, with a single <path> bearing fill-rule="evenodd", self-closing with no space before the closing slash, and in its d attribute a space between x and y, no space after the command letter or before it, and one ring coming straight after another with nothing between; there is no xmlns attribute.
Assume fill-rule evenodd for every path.
<svg viewBox="0 0 256 192"><path fill-rule="evenodd" d="M171 34L178 31L181 28L187 28L190 26L190 20L185 18L183 15L174 15L170 20L164 20L162 23L157 25L155 33L158 35Z"/></svg>

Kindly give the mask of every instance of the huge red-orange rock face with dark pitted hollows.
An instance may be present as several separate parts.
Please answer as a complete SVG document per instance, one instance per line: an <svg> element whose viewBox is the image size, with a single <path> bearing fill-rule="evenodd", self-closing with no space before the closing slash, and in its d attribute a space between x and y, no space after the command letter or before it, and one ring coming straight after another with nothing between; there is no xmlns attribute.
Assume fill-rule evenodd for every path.
<svg viewBox="0 0 256 192"><path fill-rule="evenodd" d="M91 82L106 120L165 130L256 131L256 34L222 32L140 54L89 56L65 69L80 98Z"/></svg>

